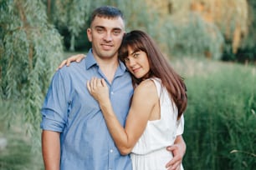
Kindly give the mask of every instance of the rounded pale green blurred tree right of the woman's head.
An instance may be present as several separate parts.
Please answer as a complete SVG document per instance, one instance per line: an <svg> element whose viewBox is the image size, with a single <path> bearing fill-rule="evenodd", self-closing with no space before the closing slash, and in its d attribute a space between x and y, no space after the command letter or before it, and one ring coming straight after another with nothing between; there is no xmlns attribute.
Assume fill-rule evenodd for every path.
<svg viewBox="0 0 256 170"><path fill-rule="evenodd" d="M167 52L174 56L203 56L219 60L224 38L217 26L206 23L197 13L187 15L183 22L177 22L177 16L166 18L161 42L166 42Z"/></svg>

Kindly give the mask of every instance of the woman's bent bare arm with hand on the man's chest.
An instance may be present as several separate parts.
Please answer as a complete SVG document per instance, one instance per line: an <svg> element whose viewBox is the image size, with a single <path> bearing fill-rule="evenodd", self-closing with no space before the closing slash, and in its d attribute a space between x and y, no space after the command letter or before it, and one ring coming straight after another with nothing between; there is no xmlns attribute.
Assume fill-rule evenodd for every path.
<svg viewBox="0 0 256 170"><path fill-rule="evenodd" d="M115 116L111 106L109 89L103 79L93 78L87 83L90 93L100 103L100 108L105 117L105 122L115 141L120 153L131 153L136 142L146 128L146 123L151 116L151 110L158 102L154 82L145 81L136 87L131 102L131 108L123 128Z"/></svg>

